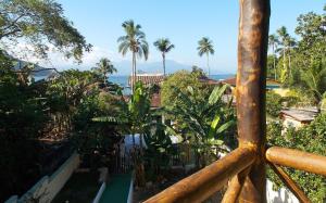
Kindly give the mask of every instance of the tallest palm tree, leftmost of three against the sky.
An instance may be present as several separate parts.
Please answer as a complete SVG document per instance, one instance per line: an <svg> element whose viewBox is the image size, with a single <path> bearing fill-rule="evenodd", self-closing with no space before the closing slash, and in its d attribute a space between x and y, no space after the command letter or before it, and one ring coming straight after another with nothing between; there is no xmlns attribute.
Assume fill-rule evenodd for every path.
<svg viewBox="0 0 326 203"><path fill-rule="evenodd" d="M131 91L134 91L135 80L136 80L136 56L145 60L148 59L149 46L146 41L146 35L141 31L141 26L136 25L133 20L126 21L122 24L123 29L126 35L117 39L118 52L126 55L128 50L133 53L133 75L131 75Z"/></svg>

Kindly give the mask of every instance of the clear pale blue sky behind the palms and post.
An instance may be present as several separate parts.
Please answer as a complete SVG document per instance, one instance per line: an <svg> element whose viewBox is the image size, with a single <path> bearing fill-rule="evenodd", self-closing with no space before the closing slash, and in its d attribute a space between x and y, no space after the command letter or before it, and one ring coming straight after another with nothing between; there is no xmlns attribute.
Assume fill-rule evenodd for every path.
<svg viewBox="0 0 326 203"><path fill-rule="evenodd" d="M150 43L148 64L161 61L152 46L160 37L167 37L176 46L167 59L184 65L205 66L205 59L197 53L198 40L210 37L215 47L211 58L213 74L235 73L237 67L238 0L59 0L65 15L74 22L86 40L95 46L85 56L80 68L90 66L101 56L110 58L121 71L130 56L122 58L116 39L124 35L121 24L134 20L142 26ZM314 11L321 13L325 0L272 0L269 33L285 25L293 34L297 17ZM53 65L72 66L71 62L53 58ZM139 63L139 68L141 64ZM148 65L147 64L147 65ZM129 72L129 69L128 69Z"/></svg>

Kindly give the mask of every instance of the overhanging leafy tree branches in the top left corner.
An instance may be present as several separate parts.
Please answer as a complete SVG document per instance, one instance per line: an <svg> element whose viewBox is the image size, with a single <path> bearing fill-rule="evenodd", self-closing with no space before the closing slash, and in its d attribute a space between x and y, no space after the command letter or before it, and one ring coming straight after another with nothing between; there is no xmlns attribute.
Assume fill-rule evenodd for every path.
<svg viewBox="0 0 326 203"><path fill-rule="evenodd" d="M0 1L0 41L5 47L16 47L24 41L45 59L49 45L52 45L65 56L73 56L78 62L83 52L91 48L54 0Z"/></svg>

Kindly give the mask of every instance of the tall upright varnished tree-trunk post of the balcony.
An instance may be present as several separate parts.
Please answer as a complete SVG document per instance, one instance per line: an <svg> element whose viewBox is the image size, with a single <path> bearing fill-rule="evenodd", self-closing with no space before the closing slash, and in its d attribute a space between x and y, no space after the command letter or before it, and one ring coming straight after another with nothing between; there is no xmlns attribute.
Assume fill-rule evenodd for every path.
<svg viewBox="0 0 326 203"><path fill-rule="evenodd" d="M269 13L269 0L240 0L238 135L240 147L253 148L258 158L244 180L239 202L266 202L265 86Z"/></svg>

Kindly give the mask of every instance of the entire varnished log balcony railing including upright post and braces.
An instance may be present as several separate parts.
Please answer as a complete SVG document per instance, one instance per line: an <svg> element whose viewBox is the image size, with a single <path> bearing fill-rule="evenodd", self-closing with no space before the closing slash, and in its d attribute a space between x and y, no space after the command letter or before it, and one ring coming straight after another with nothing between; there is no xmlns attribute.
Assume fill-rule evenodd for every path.
<svg viewBox="0 0 326 203"><path fill-rule="evenodd" d="M150 198L153 202L202 202L229 180L223 198L228 202L266 202L268 164L300 202L310 202L280 166L326 176L326 157L272 147L265 141L265 83L269 0L240 0L237 73L239 148L198 173Z"/></svg>

